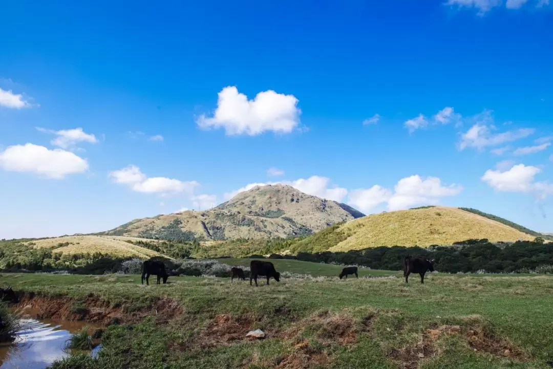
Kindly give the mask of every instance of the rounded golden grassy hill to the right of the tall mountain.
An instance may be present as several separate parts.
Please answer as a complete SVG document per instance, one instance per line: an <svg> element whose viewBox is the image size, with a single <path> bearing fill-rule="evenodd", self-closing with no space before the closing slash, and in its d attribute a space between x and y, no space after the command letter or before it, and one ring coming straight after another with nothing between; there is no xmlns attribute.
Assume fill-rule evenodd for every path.
<svg viewBox="0 0 553 369"><path fill-rule="evenodd" d="M376 246L451 245L467 239L533 240L535 236L458 208L433 207L373 214L341 225L347 237L330 251Z"/></svg>

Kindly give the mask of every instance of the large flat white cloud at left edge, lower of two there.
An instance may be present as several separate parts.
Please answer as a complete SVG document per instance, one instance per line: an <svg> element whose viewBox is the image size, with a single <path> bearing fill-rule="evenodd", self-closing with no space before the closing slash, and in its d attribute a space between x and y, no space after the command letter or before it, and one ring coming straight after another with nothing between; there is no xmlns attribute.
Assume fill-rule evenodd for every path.
<svg viewBox="0 0 553 369"><path fill-rule="evenodd" d="M68 174L87 171L88 162L70 151L25 144L8 146L0 152L0 167L7 171L34 172L59 180Z"/></svg>

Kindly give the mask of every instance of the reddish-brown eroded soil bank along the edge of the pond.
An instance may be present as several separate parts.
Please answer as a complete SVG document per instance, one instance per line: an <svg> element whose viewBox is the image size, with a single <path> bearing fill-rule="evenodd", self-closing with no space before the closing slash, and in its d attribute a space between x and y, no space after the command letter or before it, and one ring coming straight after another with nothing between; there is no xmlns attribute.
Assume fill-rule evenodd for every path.
<svg viewBox="0 0 553 369"><path fill-rule="evenodd" d="M131 304L111 304L96 296L75 300L35 293L20 296L16 309L39 319L84 320L102 325L136 323L147 316L165 324L183 313L182 306L168 298L158 298L148 307L134 309Z"/></svg>

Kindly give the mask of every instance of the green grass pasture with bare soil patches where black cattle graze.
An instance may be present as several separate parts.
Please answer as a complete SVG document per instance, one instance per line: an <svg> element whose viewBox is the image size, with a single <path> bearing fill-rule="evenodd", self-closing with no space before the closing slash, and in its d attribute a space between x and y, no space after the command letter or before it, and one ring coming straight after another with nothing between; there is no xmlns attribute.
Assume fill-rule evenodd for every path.
<svg viewBox="0 0 553 369"><path fill-rule="evenodd" d="M159 286L142 286L136 275L0 278L16 291L88 307L88 318L122 318L108 326L97 360L77 355L58 369L545 369L553 360L553 277L432 274L421 285L380 271L389 277L340 281L338 266L274 263L333 277L258 288L229 278L170 277ZM247 340L256 328L267 337Z"/></svg>

